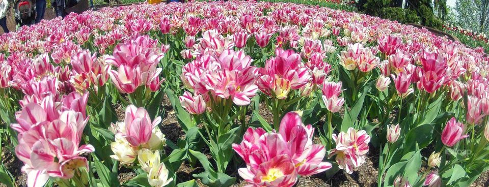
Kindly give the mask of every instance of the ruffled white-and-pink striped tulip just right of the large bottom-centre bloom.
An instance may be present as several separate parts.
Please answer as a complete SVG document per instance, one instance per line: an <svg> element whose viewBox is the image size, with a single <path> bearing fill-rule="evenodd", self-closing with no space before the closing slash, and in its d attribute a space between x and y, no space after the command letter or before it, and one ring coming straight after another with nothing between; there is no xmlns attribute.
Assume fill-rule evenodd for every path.
<svg viewBox="0 0 489 187"><path fill-rule="evenodd" d="M346 133L334 134L333 140L336 142L336 148L331 150L329 157L336 155L336 162L340 169L351 174L355 168L365 163L370 142L370 136L365 131L348 128Z"/></svg>

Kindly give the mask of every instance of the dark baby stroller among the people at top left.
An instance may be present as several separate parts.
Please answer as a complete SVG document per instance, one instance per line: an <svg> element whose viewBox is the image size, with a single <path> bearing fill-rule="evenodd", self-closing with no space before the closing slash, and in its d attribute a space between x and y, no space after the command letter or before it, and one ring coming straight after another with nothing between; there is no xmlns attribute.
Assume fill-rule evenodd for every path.
<svg viewBox="0 0 489 187"><path fill-rule="evenodd" d="M14 16L15 24L20 26L34 24L36 21L36 1L15 0Z"/></svg>

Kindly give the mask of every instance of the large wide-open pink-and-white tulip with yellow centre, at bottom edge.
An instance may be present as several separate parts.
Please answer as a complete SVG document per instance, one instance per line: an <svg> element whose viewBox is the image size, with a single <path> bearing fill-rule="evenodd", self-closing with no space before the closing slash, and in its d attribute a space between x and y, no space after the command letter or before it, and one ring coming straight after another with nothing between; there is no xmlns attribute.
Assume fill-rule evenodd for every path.
<svg viewBox="0 0 489 187"><path fill-rule="evenodd" d="M311 125L304 126L301 117L295 112L289 112L284 116L278 134L265 133L261 128L255 130L249 128L244 134L243 141L239 145L233 144L233 149L248 165L247 168L238 170L240 176L254 185L264 185L260 182L266 180L278 182L277 184L281 184L279 186L291 186L295 183L297 174L307 176L330 169L331 164L322 162L326 151L322 145L313 144L313 135L314 128ZM283 183L282 179L275 180L285 176L285 171L281 171L282 174L276 173L280 176L268 181L271 176L270 171L266 171L268 168L263 166L277 159L281 160L284 166L291 166L287 167L289 168L287 173L291 173L290 177L293 181L286 180L291 183ZM265 184L269 186L268 183Z"/></svg>

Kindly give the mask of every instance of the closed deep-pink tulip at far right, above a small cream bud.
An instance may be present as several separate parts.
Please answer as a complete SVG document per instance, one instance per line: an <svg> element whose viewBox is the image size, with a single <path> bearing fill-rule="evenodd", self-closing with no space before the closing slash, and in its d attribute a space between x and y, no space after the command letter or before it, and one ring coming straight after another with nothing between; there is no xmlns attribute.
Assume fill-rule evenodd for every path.
<svg viewBox="0 0 489 187"><path fill-rule="evenodd" d="M469 137L464 135L465 127L461 122L457 122L455 117L452 117L446 124L442 132L442 142L448 147L452 147L461 139Z"/></svg>

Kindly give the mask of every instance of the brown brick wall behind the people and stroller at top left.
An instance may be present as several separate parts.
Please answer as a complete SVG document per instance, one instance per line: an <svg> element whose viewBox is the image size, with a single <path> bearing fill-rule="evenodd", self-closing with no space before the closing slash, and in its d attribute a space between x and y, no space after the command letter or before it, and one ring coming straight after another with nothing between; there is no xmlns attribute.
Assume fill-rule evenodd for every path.
<svg viewBox="0 0 489 187"><path fill-rule="evenodd" d="M14 18L14 9L13 9L13 2L9 1L9 6L10 6L10 12L7 13L7 27L9 27L10 32L15 31L15 18ZM75 13L82 13L86 10L89 10L89 0L82 0L78 3L78 5L71 7L66 10L66 12L69 14L70 12L75 12ZM56 13L52 11L52 9L46 8L46 12L44 13L44 19L53 19L56 18ZM4 29L0 27L0 34L4 34Z"/></svg>

